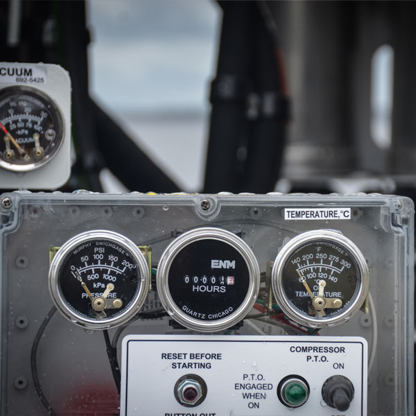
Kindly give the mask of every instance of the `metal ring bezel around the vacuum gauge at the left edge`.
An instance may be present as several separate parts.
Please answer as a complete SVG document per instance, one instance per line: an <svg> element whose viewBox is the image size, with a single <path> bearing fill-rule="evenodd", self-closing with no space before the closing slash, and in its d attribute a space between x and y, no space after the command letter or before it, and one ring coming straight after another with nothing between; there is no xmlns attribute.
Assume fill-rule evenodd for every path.
<svg viewBox="0 0 416 416"><path fill-rule="evenodd" d="M0 89L0 100L2 94L7 94L8 92L16 92L16 94L28 94L30 96L35 96L35 98L42 98L46 103L49 105L49 112L53 112L55 115L55 118L58 122L58 129L56 133L56 137L54 139L55 146L53 149L49 152L43 155L40 159L37 159L31 163L28 164L16 164L13 162L7 162L3 158L0 157L0 167L7 169L8 171L13 172L29 172L34 171L37 168L40 168L41 166L44 166L47 162L49 162L60 150L62 147L62 143L64 141L64 135L65 135L65 121L64 116L62 115L62 110L60 109L60 106L58 103L55 102L55 100L43 92L42 90L32 87L31 85L12 85L8 87L4 87ZM38 97L37 97L38 96Z"/></svg>

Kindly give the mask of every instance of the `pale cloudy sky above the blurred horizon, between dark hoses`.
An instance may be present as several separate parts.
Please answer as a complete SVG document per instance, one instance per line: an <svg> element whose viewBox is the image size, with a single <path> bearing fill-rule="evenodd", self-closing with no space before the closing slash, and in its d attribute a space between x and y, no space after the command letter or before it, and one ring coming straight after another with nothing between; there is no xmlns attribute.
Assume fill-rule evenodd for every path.
<svg viewBox="0 0 416 416"><path fill-rule="evenodd" d="M92 94L118 110L205 110L220 8L209 0L89 0Z"/></svg>

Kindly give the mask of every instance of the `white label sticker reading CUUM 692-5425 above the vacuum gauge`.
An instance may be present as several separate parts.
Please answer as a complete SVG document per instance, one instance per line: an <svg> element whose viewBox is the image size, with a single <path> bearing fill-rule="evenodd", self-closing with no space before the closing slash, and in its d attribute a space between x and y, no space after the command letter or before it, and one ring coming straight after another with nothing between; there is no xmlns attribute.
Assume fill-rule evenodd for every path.
<svg viewBox="0 0 416 416"><path fill-rule="evenodd" d="M0 83L45 84L46 67L42 64L0 63Z"/></svg>

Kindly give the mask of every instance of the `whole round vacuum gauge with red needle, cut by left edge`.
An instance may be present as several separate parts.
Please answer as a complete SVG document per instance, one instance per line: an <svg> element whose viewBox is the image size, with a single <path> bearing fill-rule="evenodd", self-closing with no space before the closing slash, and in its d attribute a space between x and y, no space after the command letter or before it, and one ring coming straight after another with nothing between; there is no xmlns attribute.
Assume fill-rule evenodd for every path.
<svg viewBox="0 0 416 416"><path fill-rule="evenodd" d="M0 166L31 171L58 151L64 121L51 97L27 85L0 90Z"/></svg>

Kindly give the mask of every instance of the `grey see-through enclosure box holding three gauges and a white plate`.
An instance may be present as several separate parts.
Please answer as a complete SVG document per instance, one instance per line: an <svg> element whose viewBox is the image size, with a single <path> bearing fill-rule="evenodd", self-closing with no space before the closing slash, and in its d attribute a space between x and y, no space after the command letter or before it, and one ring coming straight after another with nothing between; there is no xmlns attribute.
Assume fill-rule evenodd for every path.
<svg viewBox="0 0 416 416"><path fill-rule="evenodd" d="M1 415L48 415L33 385L31 349L53 306L48 291L51 246L60 247L87 230L107 229L137 245L151 246L152 263L157 268L175 236L198 227L217 227L241 236L261 272L275 260L283 245L302 232L331 229L353 241L370 269L375 313L358 311L348 322L320 329L319 333L361 336L367 340L369 352L373 349L374 363L368 369L368 415L413 414L414 211L410 199L380 194L112 195L16 191L3 194L0 203ZM288 208L349 209L350 216L289 220L285 219ZM143 309L158 306L153 284ZM293 335L285 327L266 323L260 327L271 335ZM110 331L111 336L114 331ZM192 332L174 329L168 318L159 318L134 320L123 332L128 333ZM240 333L252 334L247 325ZM117 345L119 361L122 338ZM55 313L44 330L35 361L44 396L57 415L119 413L119 397L101 331L83 329Z"/></svg>

